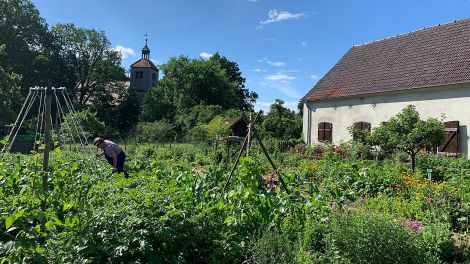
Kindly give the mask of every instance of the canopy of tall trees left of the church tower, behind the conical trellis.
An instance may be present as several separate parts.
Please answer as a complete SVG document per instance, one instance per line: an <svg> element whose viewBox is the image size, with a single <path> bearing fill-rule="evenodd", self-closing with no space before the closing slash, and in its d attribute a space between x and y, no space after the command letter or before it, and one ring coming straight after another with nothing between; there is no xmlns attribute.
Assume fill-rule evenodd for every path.
<svg viewBox="0 0 470 264"><path fill-rule="evenodd" d="M34 86L64 86L80 108L93 104L99 118L111 124L101 115L112 108L111 93L122 92L118 84L126 77L105 33L73 24L49 30L29 0L2 0L0 10L0 109L6 113L0 132Z"/></svg>

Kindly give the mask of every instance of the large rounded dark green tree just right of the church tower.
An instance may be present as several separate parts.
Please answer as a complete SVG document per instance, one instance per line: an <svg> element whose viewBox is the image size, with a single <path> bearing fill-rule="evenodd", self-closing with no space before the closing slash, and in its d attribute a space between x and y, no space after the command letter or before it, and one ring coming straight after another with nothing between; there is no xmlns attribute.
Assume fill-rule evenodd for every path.
<svg viewBox="0 0 470 264"><path fill-rule="evenodd" d="M255 93L244 88L236 63L219 55L212 60L171 58L161 70L164 77L159 86L179 114L199 104L220 105L224 110L246 109L256 99Z"/></svg>

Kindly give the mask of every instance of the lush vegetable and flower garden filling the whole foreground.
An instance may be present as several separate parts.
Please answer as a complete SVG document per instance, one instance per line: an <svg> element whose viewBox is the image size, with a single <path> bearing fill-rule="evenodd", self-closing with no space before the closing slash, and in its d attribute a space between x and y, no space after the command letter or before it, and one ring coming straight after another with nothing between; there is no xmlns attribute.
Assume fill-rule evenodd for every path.
<svg viewBox="0 0 470 264"><path fill-rule="evenodd" d="M0 162L2 263L463 263L470 163L422 155L417 171L356 159L352 145L231 164L194 145L129 147L129 179L89 154ZM321 155L319 155L321 153ZM432 180L425 174L432 168ZM47 196L48 207L41 210Z"/></svg>

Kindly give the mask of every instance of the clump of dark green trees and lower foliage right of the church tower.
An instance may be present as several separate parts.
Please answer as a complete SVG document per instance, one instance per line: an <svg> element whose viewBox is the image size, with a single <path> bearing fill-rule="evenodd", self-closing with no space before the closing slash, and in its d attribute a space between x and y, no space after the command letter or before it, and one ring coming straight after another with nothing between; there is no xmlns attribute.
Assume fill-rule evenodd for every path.
<svg viewBox="0 0 470 264"><path fill-rule="evenodd" d="M171 120L182 135L229 109L252 110L258 97L245 88L238 65L218 53L209 60L171 58L160 68L164 76L147 95L142 120Z"/></svg>

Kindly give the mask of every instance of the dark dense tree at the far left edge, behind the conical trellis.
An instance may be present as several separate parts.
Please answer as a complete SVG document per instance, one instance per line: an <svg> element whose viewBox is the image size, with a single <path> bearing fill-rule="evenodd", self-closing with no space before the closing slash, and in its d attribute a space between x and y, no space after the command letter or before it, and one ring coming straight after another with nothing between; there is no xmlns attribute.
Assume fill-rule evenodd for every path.
<svg viewBox="0 0 470 264"><path fill-rule="evenodd" d="M54 77L53 65L46 63L51 38L36 7L27 0L3 0L0 10L0 134L4 134L29 87L56 83L43 81L43 76Z"/></svg>

